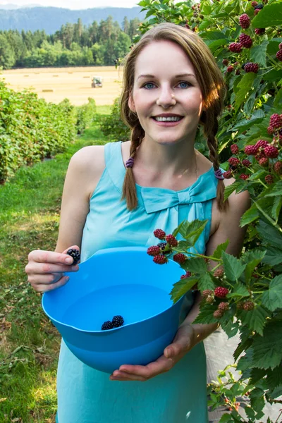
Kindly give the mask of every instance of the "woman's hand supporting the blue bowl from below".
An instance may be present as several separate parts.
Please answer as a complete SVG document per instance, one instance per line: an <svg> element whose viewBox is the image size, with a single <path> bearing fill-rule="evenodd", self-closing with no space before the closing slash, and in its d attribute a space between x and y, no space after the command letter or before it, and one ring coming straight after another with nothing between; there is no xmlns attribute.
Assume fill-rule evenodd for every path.
<svg viewBox="0 0 282 423"><path fill-rule="evenodd" d="M157 361L146 366L123 364L111 374L111 381L147 381L158 374L168 372L181 358L196 345L195 331L188 323L179 326L173 342L164 350Z"/></svg>

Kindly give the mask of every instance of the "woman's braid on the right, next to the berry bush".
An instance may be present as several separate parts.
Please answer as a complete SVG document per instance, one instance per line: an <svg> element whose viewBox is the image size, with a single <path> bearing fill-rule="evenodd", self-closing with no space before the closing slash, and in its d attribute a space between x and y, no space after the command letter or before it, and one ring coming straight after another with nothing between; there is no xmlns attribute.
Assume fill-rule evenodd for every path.
<svg viewBox="0 0 282 423"><path fill-rule="evenodd" d="M219 129L219 123L217 118L214 117L214 125L210 125L209 128L212 130L207 133L207 146L209 148L209 159L212 161L214 165L214 171L219 170L219 154L217 152L217 140L216 140L216 133ZM204 130L207 128L207 122L204 124ZM228 200L224 202L224 189L225 185L223 180L218 180L217 189L216 189L216 200L221 212L226 211L228 208Z"/></svg>

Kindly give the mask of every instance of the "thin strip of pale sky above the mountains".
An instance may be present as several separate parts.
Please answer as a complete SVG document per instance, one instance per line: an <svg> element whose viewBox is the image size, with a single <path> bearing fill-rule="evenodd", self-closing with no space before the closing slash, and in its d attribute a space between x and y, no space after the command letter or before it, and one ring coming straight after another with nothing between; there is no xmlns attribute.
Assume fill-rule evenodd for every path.
<svg viewBox="0 0 282 423"><path fill-rule="evenodd" d="M26 6L36 4L39 6L54 6L70 9L83 9L94 7L134 7L140 0L0 0L0 4L16 4Z"/></svg>

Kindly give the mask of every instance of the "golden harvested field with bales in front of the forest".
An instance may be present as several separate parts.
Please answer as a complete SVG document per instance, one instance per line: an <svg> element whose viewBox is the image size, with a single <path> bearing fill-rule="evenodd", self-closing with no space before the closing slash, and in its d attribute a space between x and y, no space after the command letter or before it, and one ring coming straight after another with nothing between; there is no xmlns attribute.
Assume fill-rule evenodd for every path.
<svg viewBox="0 0 282 423"><path fill-rule="evenodd" d="M103 87L91 87L92 77L102 78ZM32 68L2 71L0 79L12 90L26 88L37 92L47 102L59 103L68 98L75 106L94 98L97 106L111 105L121 94L123 71L115 66L80 68Z"/></svg>

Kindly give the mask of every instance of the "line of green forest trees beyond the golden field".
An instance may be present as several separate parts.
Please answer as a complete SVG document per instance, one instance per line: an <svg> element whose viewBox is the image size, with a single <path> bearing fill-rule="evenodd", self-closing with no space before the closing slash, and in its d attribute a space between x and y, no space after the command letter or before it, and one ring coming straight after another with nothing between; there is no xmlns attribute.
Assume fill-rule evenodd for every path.
<svg viewBox="0 0 282 423"><path fill-rule="evenodd" d="M0 66L39 68L45 66L114 66L118 57L128 53L138 33L140 20L128 20L122 27L112 16L85 26L82 20L66 23L54 34L44 30L0 31Z"/></svg>

